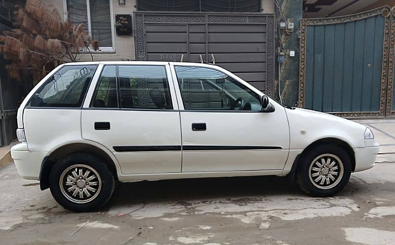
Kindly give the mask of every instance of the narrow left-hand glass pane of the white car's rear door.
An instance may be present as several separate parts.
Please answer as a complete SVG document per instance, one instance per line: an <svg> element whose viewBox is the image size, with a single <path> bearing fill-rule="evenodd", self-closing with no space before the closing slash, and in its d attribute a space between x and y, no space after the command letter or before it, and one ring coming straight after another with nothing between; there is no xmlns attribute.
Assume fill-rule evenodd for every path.
<svg viewBox="0 0 395 245"><path fill-rule="evenodd" d="M95 90L92 106L118 108L117 73L115 66L105 66Z"/></svg>

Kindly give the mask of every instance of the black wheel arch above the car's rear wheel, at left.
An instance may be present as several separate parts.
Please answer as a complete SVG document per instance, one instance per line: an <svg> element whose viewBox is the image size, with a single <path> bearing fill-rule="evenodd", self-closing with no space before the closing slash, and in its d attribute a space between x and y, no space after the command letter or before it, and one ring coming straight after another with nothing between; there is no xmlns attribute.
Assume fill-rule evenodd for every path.
<svg viewBox="0 0 395 245"><path fill-rule="evenodd" d="M106 149L107 150L107 149ZM77 152L84 152L96 155L102 158L109 165L110 170L118 179L118 162L115 156L110 151L106 151L99 146L86 142L68 143L55 148L42 161L40 168L40 189L45 190L49 188L49 173L53 165L63 157Z"/></svg>

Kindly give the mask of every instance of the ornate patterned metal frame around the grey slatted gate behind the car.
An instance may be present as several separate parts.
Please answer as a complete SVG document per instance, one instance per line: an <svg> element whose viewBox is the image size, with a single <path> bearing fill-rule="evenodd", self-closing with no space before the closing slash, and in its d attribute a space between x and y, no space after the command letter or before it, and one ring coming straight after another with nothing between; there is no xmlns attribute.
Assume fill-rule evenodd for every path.
<svg viewBox="0 0 395 245"><path fill-rule="evenodd" d="M191 14L191 13L153 13L136 12L135 23L135 52L136 60L146 60L145 23L185 23L185 24L266 24L267 53L266 53L266 94L273 97L275 70L275 16L274 14ZM206 47L207 49L207 47ZM207 51L207 50L206 50Z"/></svg>

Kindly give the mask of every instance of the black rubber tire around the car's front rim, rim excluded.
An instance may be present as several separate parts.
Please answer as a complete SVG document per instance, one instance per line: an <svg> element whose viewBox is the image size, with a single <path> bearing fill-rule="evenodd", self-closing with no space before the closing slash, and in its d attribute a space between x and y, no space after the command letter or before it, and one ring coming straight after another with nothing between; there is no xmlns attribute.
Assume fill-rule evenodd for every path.
<svg viewBox="0 0 395 245"><path fill-rule="evenodd" d="M310 164L322 154L333 154L343 163L343 176L340 182L331 189L319 189L310 180ZM315 197L330 197L341 191L348 183L351 176L351 160L345 150L334 145L318 145L301 158L298 166L297 181L304 192Z"/></svg>

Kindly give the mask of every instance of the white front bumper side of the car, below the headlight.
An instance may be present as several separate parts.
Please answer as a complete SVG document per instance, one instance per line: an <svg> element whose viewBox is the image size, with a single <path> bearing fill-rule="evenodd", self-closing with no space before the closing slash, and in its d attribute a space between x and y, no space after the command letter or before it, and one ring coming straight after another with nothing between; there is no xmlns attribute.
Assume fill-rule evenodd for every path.
<svg viewBox="0 0 395 245"><path fill-rule="evenodd" d="M374 166L380 146L355 148L355 172L370 169Z"/></svg>

